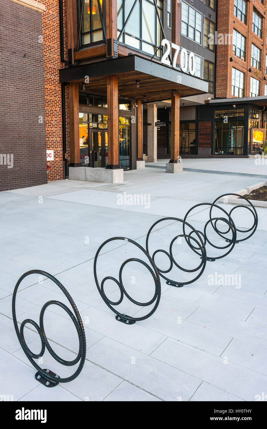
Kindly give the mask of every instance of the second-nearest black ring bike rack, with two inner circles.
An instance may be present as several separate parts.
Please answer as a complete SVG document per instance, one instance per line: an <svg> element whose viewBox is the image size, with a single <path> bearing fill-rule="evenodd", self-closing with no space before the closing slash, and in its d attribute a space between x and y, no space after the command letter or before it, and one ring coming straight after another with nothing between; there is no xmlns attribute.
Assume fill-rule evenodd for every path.
<svg viewBox="0 0 267 429"><path fill-rule="evenodd" d="M117 280L114 277L111 276L107 276L105 278L103 278L103 280L101 281L101 284L99 286L99 281L97 278L97 273L96 273L96 264L97 264L97 258L99 257L99 253L101 252L102 248L109 242L112 241L125 241L125 242L129 242L132 243L133 245L137 246L143 253L144 255L147 257L147 259L150 262L149 266L146 262L144 262L141 259L138 258L129 258L127 260L125 260L122 265L120 266L120 270L119 270L119 280ZM135 299L133 299L129 293L126 292L124 286L123 286L123 281L122 281L122 273L123 273L123 268L126 266L126 264L130 263L130 262L138 262L141 265L145 266L148 271L150 272L150 274L153 277L154 283L155 283L155 293L152 299L150 299L150 301L148 302L138 302ZM157 270L157 267L155 265L155 263L153 262L153 260L151 259L150 255L145 251L145 249L139 245L137 242L135 242L134 240L131 239L127 239L126 237L112 237L111 239L106 240L104 243L102 243L102 245L99 247L98 251L96 252L96 256L94 259L94 265L93 265L93 272L94 272L94 277L95 277L95 281L96 281L96 286L97 289L100 293L101 298L103 299L103 301L106 303L106 305L112 310L114 311L114 313L116 314L116 320L119 320L120 322L126 323L127 325L132 325L133 323L135 323L136 321L140 321L140 320L144 320L147 319L148 317L150 317L157 309L158 305L159 305L159 300L160 300L160 295L161 295L161 285L160 285L160 279L159 279L159 273ZM105 295L104 292L104 284L105 281L107 280L112 280L114 281L117 286L120 289L120 298L117 301L111 301L110 299L108 299L108 297ZM123 297L124 295L129 299L129 301L133 302L135 305L139 305L141 307L147 307L148 305L151 305L153 303L154 306L152 308L152 310L150 310L150 312L148 314L146 314L145 316L142 317L132 317L132 316L128 316L127 314L122 314L119 311L117 311L116 308L114 308L113 306L119 305L122 301L123 301Z"/></svg>

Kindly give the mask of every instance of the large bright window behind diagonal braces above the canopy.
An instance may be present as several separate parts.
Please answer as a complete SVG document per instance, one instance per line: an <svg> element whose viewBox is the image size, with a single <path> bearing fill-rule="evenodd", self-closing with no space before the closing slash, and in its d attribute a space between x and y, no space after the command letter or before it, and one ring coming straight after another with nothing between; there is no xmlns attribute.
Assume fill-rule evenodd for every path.
<svg viewBox="0 0 267 429"><path fill-rule="evenodd" d="M134 2L135 0L117 0L118 36ZM162 19L162 1L157 0L157 7ZM161 40L162 32L153 0L138 1L118 42L123 42L151 55L156 52L156 57L161 57Z"/></svg>

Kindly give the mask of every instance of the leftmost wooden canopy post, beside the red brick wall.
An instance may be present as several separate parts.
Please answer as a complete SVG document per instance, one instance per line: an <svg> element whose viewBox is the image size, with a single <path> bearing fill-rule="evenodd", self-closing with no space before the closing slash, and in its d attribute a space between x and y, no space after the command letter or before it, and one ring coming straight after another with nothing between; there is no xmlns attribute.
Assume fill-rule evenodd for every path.
<svg viewBox="0 0 267 429"><path fill-rule="evenodd" d="M80 136L79 136L79 89L78 83L69 84L69 139L70 166L80 167Z"/></svg>

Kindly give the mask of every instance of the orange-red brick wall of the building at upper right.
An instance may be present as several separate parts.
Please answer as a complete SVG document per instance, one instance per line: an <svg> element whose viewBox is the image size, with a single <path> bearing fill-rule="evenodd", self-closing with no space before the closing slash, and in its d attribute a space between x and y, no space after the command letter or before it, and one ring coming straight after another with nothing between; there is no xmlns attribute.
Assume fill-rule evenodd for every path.
<svg viewBox="0 0 267 429"><path fill-rule="evenodd" d="M265 5L267 6L267 4ZM266 35L267 35L267 15L264 15L265 6L259 1L247 1L246 24L243 24L234 16L234 0L218 0L218 33L232 34L237 30L246 38L246 59L245 61L236 57L232 51L232 44L217 45L216 58L216 97L231 98L232 95L232 67L245 73L244 97L250 95L250 78L254 77L260 81L260 93L264 95L264 86L267 84L267 75L265 74L265 56L267 53ZM252 32L252 12L253 7L261 13L263 17L262 39ZM234 23L235 21L235 23ZM251 66L251 45L252 43L261 49L261 70ZM262 45L261 45L262 44ZM230 62L230 57L233 61ZM251 68L251 72L249 72Z"/></svg>

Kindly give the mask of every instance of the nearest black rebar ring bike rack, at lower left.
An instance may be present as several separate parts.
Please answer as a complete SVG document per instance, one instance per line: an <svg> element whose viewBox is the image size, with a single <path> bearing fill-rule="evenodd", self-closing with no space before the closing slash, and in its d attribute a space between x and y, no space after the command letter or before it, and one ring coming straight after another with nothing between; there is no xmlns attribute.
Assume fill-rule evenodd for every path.
<svg viewBox="0 0 267 429"><path fill-rule="evenodd" d="M68 299L74 314L62 302L56 301L56 300L51 300L51 301L46 302L41 309L40 318L39 318L39 325L34 320L25 319L21 323L21 327L19 329L17 318L16 318L16 311L15 311L16 295L17 295L18 287L21 284L21 281L30 274L40 274L40 275L43 275L44 277L50 278L52 281L54 281L54 283L60 288L60 290L64 293L64 295ZM48 308L49 305L58 305L59 307L63 308L63 310L65 310L66 313L69 314L69 317L71 318L72 322L74 323L74 326L77 330L78 338L79 338L79 351L78 351L78 354L74 360L67 361L67 360L62 359L60 356L58 356L54 352L54 350L52 349L51 345L48 342L48 339L45 335L43 320L44 320L45 310L46 310L46 308ZM48 272L42 271L42 270L30 270L30 271L25 272L18 279L18 281L15 285L15 289L13 292L13 298L12 298L12 317L13 317L13 322L14 322L14 326L15 326L15 331L16 331L16 334L18 336L18 341L21 344L21 348L24 351L27 358L29 359L30 363L34 366L35 369L37 369L37 372L35 375L36 380L38 380L40 383L44 384L46 387L54 387L54 386L57 386L57 384L59 384L59 383L68 383L69 381L74 380L80 374L81 370L83 369L85 356L86 356L86 338L85 338L84 326L83 326L83 323L81 321L81 316L78 312L78 309L75 305L75 302L73 301L69 292L65 289L65 287L53 275L49 274ZM37 353L37 354L33 353L26 344L26 341L24 338L24 326L27 323L30 325L33 325L35 327L35 329L37 330L37 332L39 333L39 336L40 336L41 342L42 342L42 347L41 347L40 353ZM50 369L40 368L40 366L37 365L37 363L33 359L38 359L39 357L43 356L43 354L45 353L45 347L47 348L47 350L51 354L51 356L57 362L61 363L62 365L72 366L72 365L75 365L76 363L78 363L80 361L78 368L76 369L74 374L72 374L70 377L67 377L67 378L60 378L59 375L55 374Z"/></svg>

